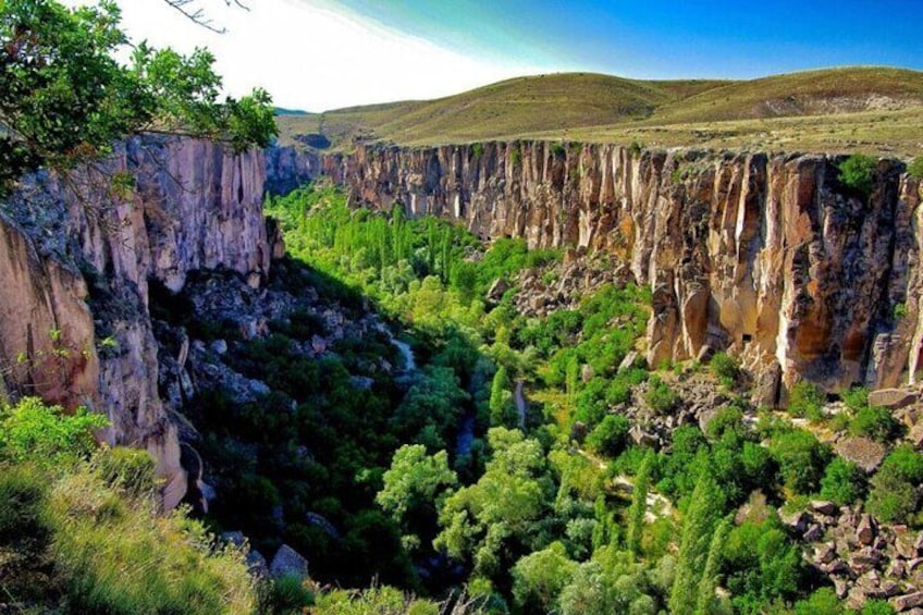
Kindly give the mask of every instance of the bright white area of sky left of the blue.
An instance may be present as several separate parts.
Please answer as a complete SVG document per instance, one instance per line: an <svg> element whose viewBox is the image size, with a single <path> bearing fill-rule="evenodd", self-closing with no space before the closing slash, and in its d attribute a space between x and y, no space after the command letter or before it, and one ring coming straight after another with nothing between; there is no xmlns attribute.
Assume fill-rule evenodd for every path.
<svg viewBox="0 0 923 615"><path fill-rule="evenodd" d="M67 3L85 3L70 0ZM249 11L198 3L223 35L192 24L162 0L122 0L133 40L190 51L208 47L229 94L268 89L280 107L337 107L446 96L538 72L467 58L335 8L323 0L248 0Z"/></svg>

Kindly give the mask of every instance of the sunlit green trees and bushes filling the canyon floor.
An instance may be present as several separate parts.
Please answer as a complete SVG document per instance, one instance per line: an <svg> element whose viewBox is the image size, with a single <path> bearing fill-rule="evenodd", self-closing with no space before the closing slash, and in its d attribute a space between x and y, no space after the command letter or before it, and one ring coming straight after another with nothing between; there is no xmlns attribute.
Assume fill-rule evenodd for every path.
<svg viewBox="0 0 923 615"><path fill-rule="evenodd" d="M393 408L395 420L378 423L374 439L361 436L368 439L359 444L365 462L350 458L360 441L354 430L368 427L340 429L349 446L322 458L317 432L329 428L316 425L295 436L310 443L325 476L343 466L368 477L360 488L373 488L394 537L376 550L378 559L369 550L350 552L369 562L369 571L442 600L459 582L444 569L427 568L443 553L462 566L467 595L494 612L760 613L824 599L811 598L800 548L775 508L810 496L857 502L866 491L864 478L786 420L748 427L744 417L754 410L741 397L725 403L705 433L690 425L673 430L668 450L631 445L623 404L669 415L684 404L682 378L701 377L623 366L643 334L645 291L606 285L574 309L522 315L514 307L518 273L551 267L546 274L553 275L556 253L529 251L515 239L484 250L443 222L408 220L399 205L386 213L350 211L344 200L316 186L272 199L269 209L282 220L287 245L311 266L310 275L350 305L355 295L371 297L405 328L418 359L406 392L380 402ZM717 354L710 369L731 392L746 381L727 355ZM519 380L530 396L525 429L512 398ZM301 399L323 404L311 401L317 386L298 389ZM385 381L377 386L387 390ZM845 398L861 416L857 433L884 436L881 417L866 410L864 390ZM792 402L795 414L823 419L826 398L819 389L796 386ZM458 426L465 423L473 427L463 448ZM349 484L347 476L337 489ZM616 477L630 477L629 497L614 488ZM331 504L344 500L336 489L327 493ZM660 500L664 504L649 506ZM744 503L747 516L731 522L728 515ZM324 514L368 517L370 505ZM292 532L285 540L297 542ZM320 543L297 544L317 552ZM345 562L340 551L328 545L324 559ZM385 562L392 568L382 568ZM410 563L429 576L415 578ZM345 566L319 566L322 580L362 581ZM729 598L716 588L729 590ZM317 604L332 596L342 604L368 598L328 592ZM407 594L402 600L406 606Z"/></svg>

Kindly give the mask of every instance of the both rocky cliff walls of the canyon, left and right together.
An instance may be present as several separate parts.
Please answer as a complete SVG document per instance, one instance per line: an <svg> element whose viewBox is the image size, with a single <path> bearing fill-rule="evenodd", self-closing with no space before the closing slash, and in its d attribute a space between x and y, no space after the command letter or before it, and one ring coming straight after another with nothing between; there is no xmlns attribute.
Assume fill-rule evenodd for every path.
<svg viewBox="0 0 923 615"><path fill-rule="evenodd" d="M912 383L920 367L920 182L881 160L871 195L823 155L648 151L542 142L431 148L291 148L233 155L134 139L107 171L126 198L30 180L0 218L4 389L106 411L110 444L147 447L185 492L176 408L158 394L149 281L176 292L198 269L259 286L283 248L264 186L329 177L354 206L443 217L485 239L605 250L653 292L647 359L739 356L762 404L807 379L835 393ZM89 175L89 172L86 172ZM182 355L182 353L181 353ZM177 362L183 364L182 356Z"/></svg>

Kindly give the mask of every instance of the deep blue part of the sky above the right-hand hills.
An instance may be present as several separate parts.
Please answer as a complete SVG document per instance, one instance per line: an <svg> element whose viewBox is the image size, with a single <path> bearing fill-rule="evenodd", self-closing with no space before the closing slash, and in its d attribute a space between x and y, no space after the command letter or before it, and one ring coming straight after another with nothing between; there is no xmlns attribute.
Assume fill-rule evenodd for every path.
<svg viewBox="0 0 923 615"><path fill-rule="evenodd" d="M549 70L747 78L842 64L923 69L923 1L343 0L456 51Z"/></svg>

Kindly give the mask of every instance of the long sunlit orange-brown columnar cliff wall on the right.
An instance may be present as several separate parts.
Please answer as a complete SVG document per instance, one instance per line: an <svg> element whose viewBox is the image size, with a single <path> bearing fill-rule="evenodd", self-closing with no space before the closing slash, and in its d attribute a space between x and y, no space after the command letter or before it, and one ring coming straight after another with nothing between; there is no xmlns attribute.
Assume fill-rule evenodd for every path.
<svg viewBox="0 0 923 615"><path fill-rule="evenodd" d="M649 362L728 348L770 403L780 378L877 388L920 367L920 185L883 160L866 198L835 162L485 143L365 147L324 157L322 174L483 237L614 253L653 291Z"/></svg>

